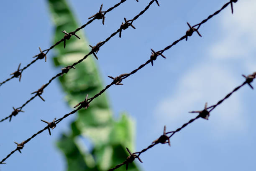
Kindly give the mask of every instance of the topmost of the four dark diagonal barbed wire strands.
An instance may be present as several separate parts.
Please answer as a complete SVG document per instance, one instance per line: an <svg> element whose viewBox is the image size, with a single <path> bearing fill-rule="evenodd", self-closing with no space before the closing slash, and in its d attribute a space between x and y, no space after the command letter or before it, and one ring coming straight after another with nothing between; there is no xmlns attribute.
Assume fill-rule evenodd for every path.
<svg viewBox="0 0 256 171"><path fill-rule="evenodd" d="M102 11L102 13L104 13L104 14L102 14L103 17L100 18L100 19L105 19L105 14L106 14L106 13L112 11L113 9L115 9L116 7L118 7L119 5L121 5L121 4L122 4L123 2L125 2L125 1L127 1L127 0L121 0L119 3L115 4L113 7L110 7L108 10ZM138 2L138 1L137 1L137 2ZM103 4L102 4L102 5L103 5ZM102 6L101 6L101 8L102 8ZM69 35L69 38L68 38L68 39L67 39L67 35L64 35L64 37L63 37L61 40L59 40L59 41L56 42L54 45L52 45L51 47L49 47L49 49L46 49L46 50L41 51L41 48L39 47L40 53L39 53L38 55L33 56L33 58L36 57L36 59L32 60L29 64L27 64L27 65L26 65L25 67L23 67L22 69L18 69L18 71L20 72L19 75L16 75L16 76L13 75L12 77L6 79L5 81L0 82L0 86L3 85L3 84L5 84L6 82L10 81L11 79L13 79L13 78L15 78L15 77L21 76L22 72L23 72L25 69L27 69L28 67L30 67L31 64L35 63L38 59L44 59L44 58L45 58L45 62L46 62L46 55L47 55L47 53L48 53L51 49L53 49L55 46L59 45L61 42L64 42L64 41L66 41L66 40L69 40L70 37L72 37L73 35L75 35L75 36L77 37L76 32L78 32L79 30L83 29L84 27L86 27L87 25L89 25L90 23L92 23L92 22L93 22L94 20L96 20L96 19L98 19L98 18L97 18L97 17L93 17L93 18L92 18L91 20L89 20L86 24L84 24L84 25L82 25L81 27L77 28L77 29L74 30L73 32L67 33L67 35ZM66 34L66 33L65 33L65 34ZM45 52L45 53L44 53L44 52Z"/></svg>

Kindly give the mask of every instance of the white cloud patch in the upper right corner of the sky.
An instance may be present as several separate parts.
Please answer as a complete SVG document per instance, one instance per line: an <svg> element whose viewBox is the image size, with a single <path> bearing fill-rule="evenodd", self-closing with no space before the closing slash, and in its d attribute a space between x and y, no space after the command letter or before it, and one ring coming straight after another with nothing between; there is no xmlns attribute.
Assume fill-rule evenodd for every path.
<svg viewBox="0 0 256 171"><path fill-rule="evenodd" d="M256 1L241 0L234 4L234 14L224 10L219 26L220 38L209 47L215 59L241 59L248 72L256 66ZM253 67L253 65L254 67Z"/></svg>

